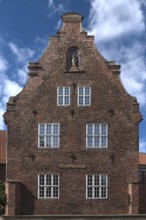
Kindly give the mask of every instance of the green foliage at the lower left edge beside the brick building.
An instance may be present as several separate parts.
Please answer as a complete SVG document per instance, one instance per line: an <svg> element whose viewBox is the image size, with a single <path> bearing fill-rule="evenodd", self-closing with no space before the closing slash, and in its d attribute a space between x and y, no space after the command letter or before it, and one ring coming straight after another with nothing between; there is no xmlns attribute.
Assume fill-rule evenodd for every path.
<svg viewBox="0 0 146 220"><path fill-rule="evenodd" d="M5 204L6 204L5 183L0 181L0 215L5 214Z"/></svg>

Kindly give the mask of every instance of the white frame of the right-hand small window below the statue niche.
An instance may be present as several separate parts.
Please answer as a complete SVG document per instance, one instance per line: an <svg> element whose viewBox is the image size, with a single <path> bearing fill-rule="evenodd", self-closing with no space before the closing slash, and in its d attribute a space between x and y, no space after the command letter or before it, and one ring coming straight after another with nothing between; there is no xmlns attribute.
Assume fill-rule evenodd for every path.
<svg viewBox="0 0 146 220"><path fill-rule="evenodd" d="M86 94L86 89L89 89L89 94ZM83 90L83 93L80 94L80 89ZM80 98L82 98L83 103L80 103ZM89 103L86 104L86 99ZM78 106L90 106L91 105L91 87L90 86L79 86L78 87Z"/></svg>

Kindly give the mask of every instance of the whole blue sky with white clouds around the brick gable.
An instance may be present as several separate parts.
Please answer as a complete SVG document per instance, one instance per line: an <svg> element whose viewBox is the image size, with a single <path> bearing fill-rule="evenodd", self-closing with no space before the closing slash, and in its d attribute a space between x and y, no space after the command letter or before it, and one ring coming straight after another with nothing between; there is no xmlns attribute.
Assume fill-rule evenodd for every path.
<svg viewBox="0 0 146 220"><path fill-rule="evenodd" d="M140 104L146 152L146 0L0 0L0 129L9 97L26 83L28 62L39 59L66 12L82 14L101 54L121 65L121 81Z"/></svg>

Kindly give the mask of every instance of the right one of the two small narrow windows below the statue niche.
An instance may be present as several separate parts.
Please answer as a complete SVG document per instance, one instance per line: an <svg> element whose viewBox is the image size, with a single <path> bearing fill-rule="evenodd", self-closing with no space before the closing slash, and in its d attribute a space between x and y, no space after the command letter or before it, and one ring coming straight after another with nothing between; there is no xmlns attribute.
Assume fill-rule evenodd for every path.
<svg viewBox="0 0 146 220"><path fill-rule="evenodd" d="M91 105L91 87L78 87L78 106Z"/></svg>

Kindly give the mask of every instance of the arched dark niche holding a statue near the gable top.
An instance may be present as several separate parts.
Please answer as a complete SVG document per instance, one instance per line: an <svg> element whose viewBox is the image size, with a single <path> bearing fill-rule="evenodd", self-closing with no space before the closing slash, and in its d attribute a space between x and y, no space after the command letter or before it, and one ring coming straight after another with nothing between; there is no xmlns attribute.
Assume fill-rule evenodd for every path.
<svg viewBox="0 0 146 220"><path fill-rule="evenodd" d="M72 66L76 66L80 69L80 60L79 60L79 49L78 47L70 47L67 51L66 55L66 69L67 71L70 70Z"/></svg>

